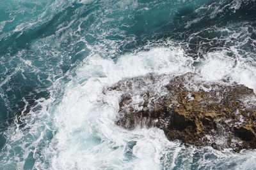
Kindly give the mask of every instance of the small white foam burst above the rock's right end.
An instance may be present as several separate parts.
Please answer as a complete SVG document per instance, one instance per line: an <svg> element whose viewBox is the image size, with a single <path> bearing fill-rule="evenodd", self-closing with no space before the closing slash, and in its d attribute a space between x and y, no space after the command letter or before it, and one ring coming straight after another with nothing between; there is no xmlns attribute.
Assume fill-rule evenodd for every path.
<svg viewBox="0 0 256 170"><path fill-rule="evenodd" d="M196 67L205 80L218 81L228 79L243 84L256 91L256 67L250 62L237 56L228 57L227 51L207 53L204 60Z"/></svg>

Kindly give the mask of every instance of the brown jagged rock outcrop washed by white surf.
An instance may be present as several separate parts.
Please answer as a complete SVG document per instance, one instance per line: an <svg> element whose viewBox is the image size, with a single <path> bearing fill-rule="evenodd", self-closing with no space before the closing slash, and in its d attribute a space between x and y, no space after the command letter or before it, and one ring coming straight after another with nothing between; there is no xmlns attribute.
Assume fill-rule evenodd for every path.
<svg viewBox="0 0 256 170"><path fill-rule="evenodd" d="M170 140L235 152L256 148L256 96L227 80L204 81L193 73L148 74L119 81L116 124L159 127Z"/></svg>

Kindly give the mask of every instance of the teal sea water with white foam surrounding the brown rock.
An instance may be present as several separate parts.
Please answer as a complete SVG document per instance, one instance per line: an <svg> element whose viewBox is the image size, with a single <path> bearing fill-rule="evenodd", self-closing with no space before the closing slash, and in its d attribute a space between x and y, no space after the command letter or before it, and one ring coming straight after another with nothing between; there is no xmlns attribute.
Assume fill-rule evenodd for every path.
<svg viewBox="0 0 256 170"><path fill-rule="evenodd" d="M1 0L0 169L256 169L256 151L115 125L147 73L198 73L256 92L255 0Z"/></svg>

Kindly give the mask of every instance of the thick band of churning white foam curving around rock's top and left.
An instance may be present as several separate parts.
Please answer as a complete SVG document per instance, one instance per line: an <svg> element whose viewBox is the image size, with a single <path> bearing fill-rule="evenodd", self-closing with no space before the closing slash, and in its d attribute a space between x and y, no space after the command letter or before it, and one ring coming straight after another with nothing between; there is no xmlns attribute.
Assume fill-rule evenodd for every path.
<svg viewBox="0 0 256 170"><path fill-rule="evenodd" d="M159 129L126 131L117 127L114 120L120 94L103 94L102 88L122 78L151 72L198 72L211 81L235 75L232 78L239 83L252 83L236 78L241 74L239 71L246 68L237 69L225 52L209 53L200 62L200 67L193 67L193 60L186 57L182 48L176 47L154 47L147 52L125 54L117 62L92 53L84 61L84 66L77 69L77 76L67 84L65 95L54 114L58 133L51 147L56 150L51 159L52 169L161 169L160 159L166 154L166 147L179 148L179 143L168 141ZM136 141L136 145L127 156L125 148L129 141ZM181 154L179 150L175 151L176 154ZM172 162L171 166L175 165Z"/></svg>

